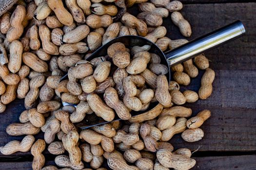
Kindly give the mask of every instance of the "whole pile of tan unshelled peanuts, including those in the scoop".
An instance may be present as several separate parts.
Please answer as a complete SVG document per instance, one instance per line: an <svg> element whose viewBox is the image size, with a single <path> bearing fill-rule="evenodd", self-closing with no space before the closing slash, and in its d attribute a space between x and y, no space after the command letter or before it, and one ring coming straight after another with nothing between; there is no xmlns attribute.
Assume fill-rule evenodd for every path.
<svg viewBox="0 0 256 170"><path fill-rule="evenodd" d="M112 44L106 56L88 57L101 45L122 35L144 36L162 51L187 43L166 37L163 17L170 17L189 37L190 24L178 11L178 0L18 0L0 16L0 112L16 98L24 99L27 110L20 123L10 124L10 136L23 136L0 147L0 153L31 152L33 170L58 170L45 166L42 152L57 155L55 163L65 170L82 170L84 162L100 168L104 159L113 170L189 170L196 160L187 148L174 151L168 141L175 135L187 142L204 136L200 126L211 115L180 106L207 99L213 90L215 72L203 55L171 68L150 53L150 46L130 49ZM138 3L137 17L126 12ZM103 5L104 4L104 5ZM169 15L169 13L171 15ZM195 65L194 65L195 64ZM179 91L205 70L197 92ZM68 74L68 79L61 77ZM62 106L61 101L71 104ZM159 104L149 111L150 103ZM131 117L131 111L145 111ZM117 114L127 121L80 130L74 123L96 114L111 121ZM33 135L40 131L43 139ZM36 140L36 141L35 141ZM68 153L68 156L64 153ZM64 170L64 169L63 169ZM91 170L91 169L84 169Z"/></svg>

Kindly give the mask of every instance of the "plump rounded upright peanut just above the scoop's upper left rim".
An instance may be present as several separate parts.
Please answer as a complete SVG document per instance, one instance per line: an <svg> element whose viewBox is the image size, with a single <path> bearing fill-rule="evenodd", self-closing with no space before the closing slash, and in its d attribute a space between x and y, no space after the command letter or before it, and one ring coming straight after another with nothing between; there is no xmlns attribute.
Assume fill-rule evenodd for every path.
<svg viewBox="0 0 256 170"><path fill-rule="evenodd" d="M99 33L91 32L90 34L88 34L87 43L91 51L97 50L100 47L101 42L102 42L102 37Z"/></svg>

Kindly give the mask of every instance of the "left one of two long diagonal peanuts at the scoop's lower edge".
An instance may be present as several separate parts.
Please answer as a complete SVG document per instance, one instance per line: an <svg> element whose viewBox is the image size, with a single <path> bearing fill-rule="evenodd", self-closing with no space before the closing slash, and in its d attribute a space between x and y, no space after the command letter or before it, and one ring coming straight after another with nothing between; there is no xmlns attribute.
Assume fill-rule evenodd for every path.
<svg viewBox="0 0 256 170"><path fill-rule="evenodd" d="M97 94L89 94L87 101L91 109L95 112L98 117L106 121L111 121L115 118L115 112L108 107Z"/></svg>

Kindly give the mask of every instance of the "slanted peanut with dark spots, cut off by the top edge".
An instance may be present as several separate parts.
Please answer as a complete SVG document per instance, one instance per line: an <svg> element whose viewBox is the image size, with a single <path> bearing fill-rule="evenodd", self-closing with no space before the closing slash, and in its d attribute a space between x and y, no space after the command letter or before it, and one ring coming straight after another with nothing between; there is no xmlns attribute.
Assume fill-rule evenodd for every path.
<svg viewBox="0 0 256 170"><path fill-rule="evenodd" d="M80 24L85 23L83 11L81 8L79 8L77 0L65 0L65 2L74 20Z"/></svg>

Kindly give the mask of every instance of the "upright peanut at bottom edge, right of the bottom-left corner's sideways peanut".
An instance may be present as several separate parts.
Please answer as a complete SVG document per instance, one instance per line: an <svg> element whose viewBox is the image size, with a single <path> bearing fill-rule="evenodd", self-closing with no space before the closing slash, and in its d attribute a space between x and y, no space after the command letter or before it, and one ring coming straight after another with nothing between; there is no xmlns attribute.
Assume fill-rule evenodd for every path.
<svg viewBox="0 0 256 170"><path fill-rule="evenodd" d="M42 154L43 150L45 149L45 142L42 139L38 139L31 147L31 154L34 156L32 162L33 170L40 170L44 163L45 158Z"/></svg>

